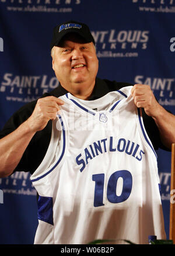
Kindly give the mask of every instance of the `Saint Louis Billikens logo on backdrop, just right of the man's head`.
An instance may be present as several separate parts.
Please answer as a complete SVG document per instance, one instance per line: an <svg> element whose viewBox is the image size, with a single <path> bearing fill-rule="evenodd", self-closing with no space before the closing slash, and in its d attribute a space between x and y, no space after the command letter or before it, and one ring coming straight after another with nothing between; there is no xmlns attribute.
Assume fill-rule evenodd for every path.
<svg viewBox="0 0 175 256"><path fill-rule="evenodd" d="M96 42L97 57L138 57L146 50L149 42L149 30L108 30L92 31Z"/></svg>

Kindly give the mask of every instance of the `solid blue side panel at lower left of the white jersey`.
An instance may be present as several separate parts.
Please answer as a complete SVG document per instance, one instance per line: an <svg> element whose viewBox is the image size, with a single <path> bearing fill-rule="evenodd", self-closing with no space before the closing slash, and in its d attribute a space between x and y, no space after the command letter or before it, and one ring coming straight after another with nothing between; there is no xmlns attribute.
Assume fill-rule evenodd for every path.
<svg viewBox="0 0 175 256"><path fill-rule="evenodd" d="M47 222L51 225L53 221L53 198L49 196L39 196L38 198L38 220Z"/></svg>

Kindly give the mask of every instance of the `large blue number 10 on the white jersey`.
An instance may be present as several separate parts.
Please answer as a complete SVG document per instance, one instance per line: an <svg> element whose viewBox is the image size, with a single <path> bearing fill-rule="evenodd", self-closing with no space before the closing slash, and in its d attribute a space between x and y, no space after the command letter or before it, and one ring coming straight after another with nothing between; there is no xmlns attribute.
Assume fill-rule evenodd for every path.
<svg viewBox="0 0 175 256"><path fill-rule="evenodd" d="M120 178L120 179L119 179ZM94 206L103 206L104 193L104 174L93 174L92 180L95 181ZM120 195L117 193L118 182L122 181L122 190ZM107 182L107 199L111 203L121 203L129 198L132 190L132 175L127 170L115 171L111 174Z"/></svg>

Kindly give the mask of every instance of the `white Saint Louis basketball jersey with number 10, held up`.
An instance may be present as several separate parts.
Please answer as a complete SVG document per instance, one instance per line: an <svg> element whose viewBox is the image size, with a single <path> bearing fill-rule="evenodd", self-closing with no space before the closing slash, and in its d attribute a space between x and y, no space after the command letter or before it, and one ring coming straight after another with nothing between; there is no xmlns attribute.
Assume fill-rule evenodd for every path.
<svg viewBox="0 0 175 256"><path fill-rule="evenodd" d="M166 238L156 153L131 88L95 101L60 97L50 146L31 175L40 196L35 244Z"/></svg>

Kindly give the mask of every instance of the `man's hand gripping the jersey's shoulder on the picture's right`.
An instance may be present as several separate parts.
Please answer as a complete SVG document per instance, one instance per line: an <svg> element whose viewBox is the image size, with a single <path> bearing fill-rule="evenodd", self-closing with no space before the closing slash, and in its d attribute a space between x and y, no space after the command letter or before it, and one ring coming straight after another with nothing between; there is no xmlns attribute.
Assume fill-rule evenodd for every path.
<svg viewBox="0 0 175 256"><path fill-rule="evenodd" d="M156 101L149 85L135 84L131 89L131 95L137 108L144 108L148 116L156 117L162 106Z"/></svg>

